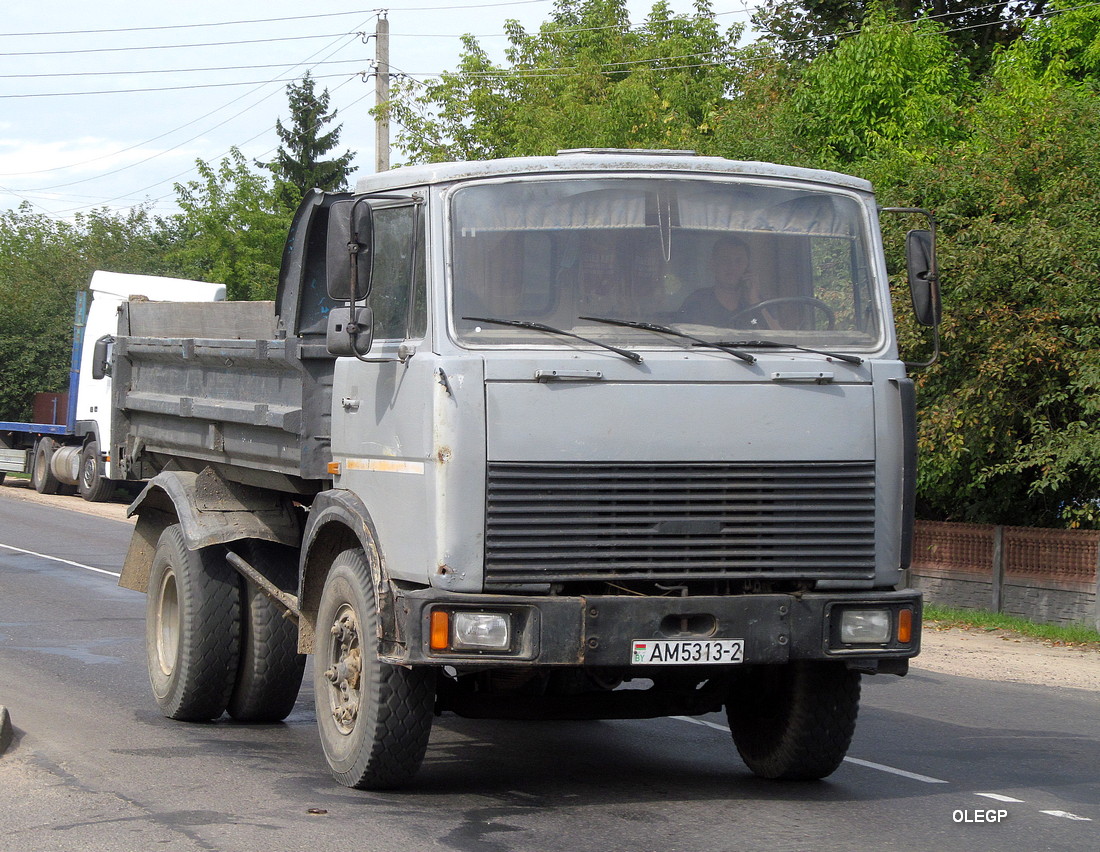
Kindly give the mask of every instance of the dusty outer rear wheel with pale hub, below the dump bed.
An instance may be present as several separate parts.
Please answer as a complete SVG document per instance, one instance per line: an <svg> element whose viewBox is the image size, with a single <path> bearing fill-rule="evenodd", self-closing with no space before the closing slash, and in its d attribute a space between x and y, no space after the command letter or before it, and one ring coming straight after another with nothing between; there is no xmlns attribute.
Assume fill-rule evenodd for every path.
<svg viewBox="0 0 1100 852"><path fill-rule="evenodd" d="M217 719L237 681L240 582L224 553L219 546L188 550L178 523L156 543L145 659L153 696L169 719Z"/></svg>

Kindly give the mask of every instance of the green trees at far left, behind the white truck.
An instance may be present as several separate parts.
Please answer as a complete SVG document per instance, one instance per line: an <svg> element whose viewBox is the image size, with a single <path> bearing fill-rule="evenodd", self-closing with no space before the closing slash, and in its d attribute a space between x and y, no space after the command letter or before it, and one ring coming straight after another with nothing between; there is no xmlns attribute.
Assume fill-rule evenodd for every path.
<svg viewBox="0 0 1100 852"><path fill-rule="evenodd" d="M28 204L0 213L0 420L30 420L35 392L68 388L76 294L91 273L169 274L165 247L143 208L68 222Z"/></svg>

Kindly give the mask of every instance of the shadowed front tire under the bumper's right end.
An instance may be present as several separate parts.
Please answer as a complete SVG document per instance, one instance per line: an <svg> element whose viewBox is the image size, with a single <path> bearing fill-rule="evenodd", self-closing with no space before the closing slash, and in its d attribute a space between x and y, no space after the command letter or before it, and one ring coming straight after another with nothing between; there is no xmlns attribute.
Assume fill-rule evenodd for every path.
<svg viewBox="0 0 1100 852"><path fill-rule="evenodd" d="M762 778L816 781L848 751L859 711L859 673L843 663L798 662L743 673L726 718L746 765Z"/></svg>

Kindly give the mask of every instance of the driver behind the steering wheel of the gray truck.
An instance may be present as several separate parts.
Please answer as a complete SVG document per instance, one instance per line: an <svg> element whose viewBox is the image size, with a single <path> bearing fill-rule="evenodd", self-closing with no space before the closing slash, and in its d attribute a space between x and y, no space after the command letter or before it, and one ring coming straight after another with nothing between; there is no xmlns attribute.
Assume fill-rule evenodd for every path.
<svg viewBox="0 0 1100 852"><path fill-rule="evenodd" d="M721 237L711 250L714 286L695 290L684 299L680 321L730 329L776 328L767 309L752 310L763 298L749 275L749 247L744 240Z"/></svg>

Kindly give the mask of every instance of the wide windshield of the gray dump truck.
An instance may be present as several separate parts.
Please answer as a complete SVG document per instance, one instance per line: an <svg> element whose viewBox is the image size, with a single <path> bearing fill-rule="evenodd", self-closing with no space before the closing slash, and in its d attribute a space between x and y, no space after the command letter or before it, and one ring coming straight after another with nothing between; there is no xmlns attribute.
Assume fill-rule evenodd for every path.
<svg viewBox="0 0 1100 852"><path fill-rule="evenodd" d="M455 191L451 246L466 345L576 345L486 318L642 347L693 344L637 323L726 343L879 340L861 207L846 195L647 177L483 184Z"/></svg>

